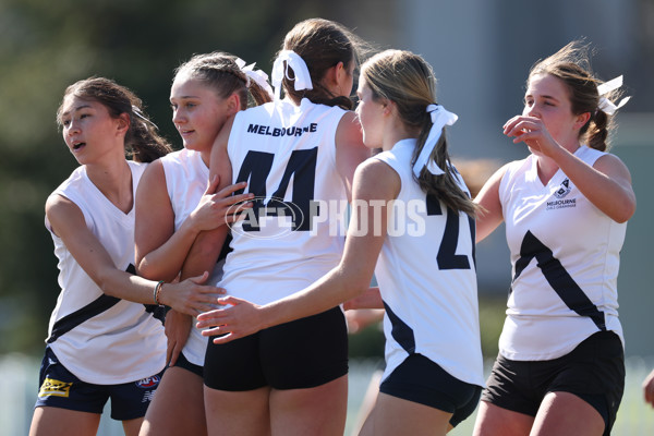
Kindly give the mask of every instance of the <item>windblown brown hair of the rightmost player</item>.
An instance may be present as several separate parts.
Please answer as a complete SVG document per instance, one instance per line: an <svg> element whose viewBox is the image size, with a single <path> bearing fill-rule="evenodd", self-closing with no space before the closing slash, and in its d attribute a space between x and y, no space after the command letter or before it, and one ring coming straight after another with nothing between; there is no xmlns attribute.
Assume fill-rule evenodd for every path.
<svg viewBox="0 0 654 436"><path fill-rule="evenodd" d="M580 141L590 147L605 152L609 148L609 134L615 128L613 117L598 108L597 85L602 83L591 70L591 49L583 40L574 40L547 59L536 62L530 70L528 82L534 75L549 74L559 78L568 89L574 114L589 112L589 121L580 130ZM616 99L615 90L604 97Z"/></svg>

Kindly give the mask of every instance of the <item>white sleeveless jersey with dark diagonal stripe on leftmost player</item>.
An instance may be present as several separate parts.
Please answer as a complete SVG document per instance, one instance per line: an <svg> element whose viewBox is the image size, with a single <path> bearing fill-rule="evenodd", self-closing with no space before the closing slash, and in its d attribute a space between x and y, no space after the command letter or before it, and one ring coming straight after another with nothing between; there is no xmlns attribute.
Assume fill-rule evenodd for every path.
<svg viewBox="0 0 654 436"><path fill-rule="evenodd" d="M128 161L134 193L146 165ZM80 167L53 194L73 202L121 270L134 268L134 208L122 213ZM73 258L46 217L59 259L61 293L50 317L47 342L80 379L97 385L129 383L164 370L164 326L144 304L106 295Z"/></svg>

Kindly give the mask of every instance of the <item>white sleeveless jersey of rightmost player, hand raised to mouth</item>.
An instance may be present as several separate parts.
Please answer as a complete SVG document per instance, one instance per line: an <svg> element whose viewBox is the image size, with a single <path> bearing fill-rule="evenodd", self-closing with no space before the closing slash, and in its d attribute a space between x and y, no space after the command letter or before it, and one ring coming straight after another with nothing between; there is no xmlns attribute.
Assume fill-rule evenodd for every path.
<svg viewBox="0 0 654 436"><path fill-rule="evenodd" d="M581 146L574 155L592 166L605 153ZM597 209L560 169L543 185L533 155L509 165L499 198L513 275L501 354L552 360L600 330L623 341L617 277L627 223Z"/></svg>

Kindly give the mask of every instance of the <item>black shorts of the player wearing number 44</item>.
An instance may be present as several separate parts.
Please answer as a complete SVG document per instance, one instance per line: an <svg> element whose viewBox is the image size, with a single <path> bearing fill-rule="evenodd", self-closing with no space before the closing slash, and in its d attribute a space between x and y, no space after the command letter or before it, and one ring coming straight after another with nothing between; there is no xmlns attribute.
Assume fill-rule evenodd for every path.
<svg viewBox="0 0 654 436"><path fill-rule="evenodd" d="M204 383L244 391L313 388L348 374L348 331L340 307L225 344L209 340Z"/></svg>

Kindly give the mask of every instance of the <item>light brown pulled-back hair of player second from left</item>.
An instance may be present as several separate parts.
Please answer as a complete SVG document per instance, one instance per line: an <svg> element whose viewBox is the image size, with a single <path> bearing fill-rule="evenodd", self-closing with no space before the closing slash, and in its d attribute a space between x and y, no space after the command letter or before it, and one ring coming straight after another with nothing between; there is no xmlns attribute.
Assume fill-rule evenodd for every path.
<svg viewBox="0 0 654 436"><path fill-rule="evenodd" d="M189 73L192 77L214 88L220 98L227 98L237 93L241 100L241 109L246 109L249 106L249 92L254 105L270 101L271 98L266 89L255 81L249 80L241 70L237 63L238 59L235 56L222 51L195 55L174 70L174 77L181 73Z"/></svg>

